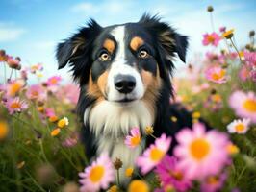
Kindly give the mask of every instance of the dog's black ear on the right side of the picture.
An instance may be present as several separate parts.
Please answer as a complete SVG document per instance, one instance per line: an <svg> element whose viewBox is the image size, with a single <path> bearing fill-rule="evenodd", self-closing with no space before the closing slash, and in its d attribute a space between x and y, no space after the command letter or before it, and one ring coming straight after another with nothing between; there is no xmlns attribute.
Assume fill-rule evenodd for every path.
<svg viewBox="0 0 256 192"><path fill-rule="evenodd" d="M171 60L174 57L174 53L176 53L180 60L185 62L188 36L178 34L167 23L161 22L157 15L150 16L149 14L144 14L139 23L157 37L159 43L166 51L166 59Z"/></svg>

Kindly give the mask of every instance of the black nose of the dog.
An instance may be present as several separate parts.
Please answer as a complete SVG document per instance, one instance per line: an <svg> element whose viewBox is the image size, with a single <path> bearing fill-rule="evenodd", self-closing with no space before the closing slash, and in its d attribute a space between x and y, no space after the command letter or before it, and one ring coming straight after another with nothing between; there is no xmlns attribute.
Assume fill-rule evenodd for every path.
<svg viewBox="0 0 256 192"><path fill-rule="evenodd" d="M133 91L136 85L136 80L130 75L117 75L115 77L115 89L120 93L130 93Z"/></svg>

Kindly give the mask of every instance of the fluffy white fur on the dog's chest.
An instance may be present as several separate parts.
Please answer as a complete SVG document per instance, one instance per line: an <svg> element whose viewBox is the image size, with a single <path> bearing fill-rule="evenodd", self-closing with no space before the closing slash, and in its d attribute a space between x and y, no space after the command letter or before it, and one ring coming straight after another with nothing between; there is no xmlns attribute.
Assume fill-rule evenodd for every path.
<svg viewBox="0 0 256 192"><path fill-rule="evenodd" d="M97 155L107 152L112 159L120 158L123 162L121 172L134 165L136 158L141 154L141 146L144 146L142 140L141 146L136 149L128 148L124 144L125 135L128 135L132 128L144 129L152 125L153 121L154 114L143 101L125 106L102 101L88 108L84 114L84 123L90 125L90 131L95 134L97 140ZM124 176L124 173L120 176Z"/></svg>

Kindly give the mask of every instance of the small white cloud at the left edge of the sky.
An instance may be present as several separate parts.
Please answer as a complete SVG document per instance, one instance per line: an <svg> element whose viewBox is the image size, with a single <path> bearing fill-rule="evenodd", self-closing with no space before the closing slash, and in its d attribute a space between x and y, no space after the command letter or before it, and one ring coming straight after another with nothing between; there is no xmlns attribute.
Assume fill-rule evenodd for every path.
<svg viewBox="0 0 256 192"><path fill-rule="evenodd" d="M25 32L25 29L15 27L11 23L0 23L0 42L16 40Z"/></svg>

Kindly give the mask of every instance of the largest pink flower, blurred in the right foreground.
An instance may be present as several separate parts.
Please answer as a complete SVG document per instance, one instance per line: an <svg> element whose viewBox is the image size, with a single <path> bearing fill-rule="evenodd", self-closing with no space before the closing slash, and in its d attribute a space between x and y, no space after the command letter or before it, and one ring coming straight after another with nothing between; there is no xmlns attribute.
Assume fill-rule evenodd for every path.
<svg viewBox="0 0 256 192"><path fill-rule="evenodd" d="M227 135L216 130L206 132L201 123L193 124L192 130L186 128L178 132L176 139L177 166L190 180L203 180L218 174L229 159Z"/></svg>

